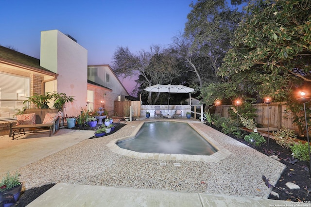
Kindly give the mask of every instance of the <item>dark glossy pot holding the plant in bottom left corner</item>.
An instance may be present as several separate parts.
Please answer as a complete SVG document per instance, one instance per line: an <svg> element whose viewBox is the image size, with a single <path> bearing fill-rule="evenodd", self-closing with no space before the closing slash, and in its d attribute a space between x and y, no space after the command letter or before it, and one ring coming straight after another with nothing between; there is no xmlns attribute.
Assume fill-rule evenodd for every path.
<svg viewBox="0 0 311 207"><path fill-rule="evenodd" d="M0 192L0 206L1 207L11 207L13 206L21 192L22 183L20 183L19 186L16 186L15 188L9 189L8 191Z"/></svg>

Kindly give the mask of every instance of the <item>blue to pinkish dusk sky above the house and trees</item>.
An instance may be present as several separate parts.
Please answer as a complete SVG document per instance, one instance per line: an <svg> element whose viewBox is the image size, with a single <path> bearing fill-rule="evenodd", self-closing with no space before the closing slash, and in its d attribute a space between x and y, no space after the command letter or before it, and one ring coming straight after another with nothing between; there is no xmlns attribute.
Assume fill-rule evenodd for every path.
<svg viewBox="0 0 311 207"><path fill-rule="evenodd" d="M40 32L59 30L87 49L88 64L112 65L118 46L136 53L170 44L185 28L191 1L1 0L0 45L40 59ZM134 84L123 85L131 93Z"/></svg>

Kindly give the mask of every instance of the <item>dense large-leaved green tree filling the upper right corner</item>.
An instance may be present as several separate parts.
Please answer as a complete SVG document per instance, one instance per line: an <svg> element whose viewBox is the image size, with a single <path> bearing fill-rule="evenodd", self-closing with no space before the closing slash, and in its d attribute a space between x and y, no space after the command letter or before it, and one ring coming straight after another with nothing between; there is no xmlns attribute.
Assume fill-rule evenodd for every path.
<svg viewBox="0 0 311 207"><path fill-rule="evenodd" d="M219 75L248 71L261 96L286 98L311 81L311 1L253 1L246 11Z"/></svg>

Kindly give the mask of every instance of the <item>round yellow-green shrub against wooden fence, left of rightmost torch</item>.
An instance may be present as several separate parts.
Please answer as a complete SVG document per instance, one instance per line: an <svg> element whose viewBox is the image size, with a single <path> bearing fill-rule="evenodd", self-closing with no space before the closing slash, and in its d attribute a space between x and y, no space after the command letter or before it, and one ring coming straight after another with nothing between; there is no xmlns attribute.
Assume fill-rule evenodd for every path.
<svg viewBox="0 0 311 207"><path fill-rule="evenodd" d="M278 145L289 148L294 145L297 138L294 132L294 130L282 127L280 130L272 132L272 135Z"/></svg>

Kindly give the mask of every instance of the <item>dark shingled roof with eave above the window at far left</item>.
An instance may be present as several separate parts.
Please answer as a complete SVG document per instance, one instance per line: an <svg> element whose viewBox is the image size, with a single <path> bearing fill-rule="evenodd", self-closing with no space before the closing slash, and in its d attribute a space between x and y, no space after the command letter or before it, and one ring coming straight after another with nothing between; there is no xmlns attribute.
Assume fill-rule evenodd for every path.
<svg viewBox="0 0 311 207"><path fill-rule="evenodd" d="M23 67L29 66L38 72L48 72L51 75L57 76L56 73L41 67L39 59L17 52L13 49L5 48L3 46L0 46L0 61L20 65Z"/></svg>

